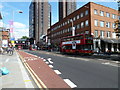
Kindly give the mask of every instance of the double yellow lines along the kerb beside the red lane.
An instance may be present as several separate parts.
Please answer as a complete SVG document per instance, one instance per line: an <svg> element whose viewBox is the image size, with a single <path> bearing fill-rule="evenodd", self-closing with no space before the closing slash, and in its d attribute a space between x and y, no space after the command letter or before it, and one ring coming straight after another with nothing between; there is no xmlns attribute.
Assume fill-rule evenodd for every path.
<svg viewBox="0 0 120 90"><path fill-rule="evenodd" d="M32 76L33 80L37 84L37 86L40 88L40 90L48 90L47 86L42 82L42 80L36 75L36 73L32 70L32 68L24 61L24 58L18 53L20 59L22 60L22 63Z"/></svg>

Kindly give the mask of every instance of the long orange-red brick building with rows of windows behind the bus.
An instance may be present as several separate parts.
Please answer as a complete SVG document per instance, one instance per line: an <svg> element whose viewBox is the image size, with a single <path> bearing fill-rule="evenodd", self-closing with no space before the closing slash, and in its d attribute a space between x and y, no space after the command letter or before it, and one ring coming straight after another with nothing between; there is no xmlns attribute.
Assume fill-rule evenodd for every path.
<svg viewBox="0 0 120 90"><path fill-rule="evenodd" d="M89 2L48 29L48 45L59 47L62 37L72 35L73 24L76 35L88 33L94 36L95 51L98 47L102 52L120 51L120 42L114 32L116 20L117 10Z"/></svg>

